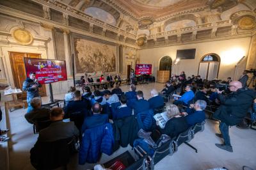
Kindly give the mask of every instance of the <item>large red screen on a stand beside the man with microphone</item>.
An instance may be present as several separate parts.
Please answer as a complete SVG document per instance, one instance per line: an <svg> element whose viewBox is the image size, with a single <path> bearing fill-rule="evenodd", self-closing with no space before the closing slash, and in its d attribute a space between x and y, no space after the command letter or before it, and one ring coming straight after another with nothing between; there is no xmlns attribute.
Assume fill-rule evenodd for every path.
<svg viewBox="0 0 256 170"><path fill-rule="evenodd" d="M54 59L24 58L26 75L30 72L36 73L36 79L40 84L67 81L67 70L65 61Z"/></svg>

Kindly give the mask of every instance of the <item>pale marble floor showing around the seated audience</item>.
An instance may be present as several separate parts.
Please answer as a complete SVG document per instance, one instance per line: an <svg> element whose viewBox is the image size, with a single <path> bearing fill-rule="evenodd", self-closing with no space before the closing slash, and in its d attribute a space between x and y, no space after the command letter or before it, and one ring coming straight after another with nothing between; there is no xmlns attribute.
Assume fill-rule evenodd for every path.
<svg viewBox="0 0 256 170"><path fill-rule="evenodd" d="M164 84L150 83L138 85L137 90L143 90L145 98L150 98L150 89L156 88L161 90ZM129 86L122 85L123 91L127 91ZM61 99L65 95L54 95L55 99ZM43 102L47 103L49 98L44 97ZM3 111L4 108L2 108ZM33 127L29 124L24 114L26 109L17 109L10 112L8 120L10 121L10 134L12 140L10 141L10 169L11 170L30 170L34 169L29 160L29 150L36 143L38 135L33 134ZM211 169L214 167L226 167L227 169L240 170L243 166L250 166L256 169L256 131L252 129L241 130L236 127L230 128L230 138L233 146L233 153L220 150L214 144L220 143L221 139L214 134L218 132L218 123L216 121L207 120L205 123L204 132L198 132L195 138L190 142L198 153L182 144L179 146L177 153L172 156L163 158L155 169ZM106 162L111 158L120 155L125 150L131 151L131 147L120 148L110 157L102 155L100 163ZM1 154L0 154L1 155ZM74 155L68 169L91 169L92 164L85 164L79 166L77 164L77 155ZM0 168L1 169L1 168Z"/></svg>

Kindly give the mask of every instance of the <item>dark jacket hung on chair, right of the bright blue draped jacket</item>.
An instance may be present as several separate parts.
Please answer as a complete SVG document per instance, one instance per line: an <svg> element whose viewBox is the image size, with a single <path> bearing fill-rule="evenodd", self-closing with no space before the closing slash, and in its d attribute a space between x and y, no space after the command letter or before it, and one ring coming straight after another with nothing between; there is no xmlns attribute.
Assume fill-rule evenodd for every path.
<svg viewBox="0 0 256 170"><path fill-rule="evenodd" d="M114 120L113 131L115 141L119 141L122 147L133 144L138 134L138 124L134 115Z"/></svg>

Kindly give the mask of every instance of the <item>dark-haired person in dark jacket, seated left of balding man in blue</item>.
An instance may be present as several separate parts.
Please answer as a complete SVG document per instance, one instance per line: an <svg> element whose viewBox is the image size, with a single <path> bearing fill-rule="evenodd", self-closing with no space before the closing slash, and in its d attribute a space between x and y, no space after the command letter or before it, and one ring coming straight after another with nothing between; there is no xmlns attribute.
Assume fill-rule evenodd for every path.
<svg viewBox="0 0 256 170"><path fill-rule="evenodd" d="M88 116L88 103L81 100L81 93L79 90L74 93L74 101L68 103L65 114L69 115L72 112L81 112L84 118Z"/></svg>

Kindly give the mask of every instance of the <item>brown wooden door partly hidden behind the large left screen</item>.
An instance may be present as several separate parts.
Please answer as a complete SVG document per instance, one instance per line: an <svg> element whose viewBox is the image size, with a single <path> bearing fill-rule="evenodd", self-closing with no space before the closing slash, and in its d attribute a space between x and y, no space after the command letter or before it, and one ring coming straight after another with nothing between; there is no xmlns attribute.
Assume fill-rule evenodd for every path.
<svg viewBox="0 0 256 170"><path fill-rule="evenodd" d="M17 89L22 89L22 84L26 79L26 69L24 65L24 58L41 58L41 54L10 52L10 61L12 65L13 81ZM39 88L41 97L46 96L45 85ZM27 97L26 91L17 95L18 98L24 100Z"/></svg>

